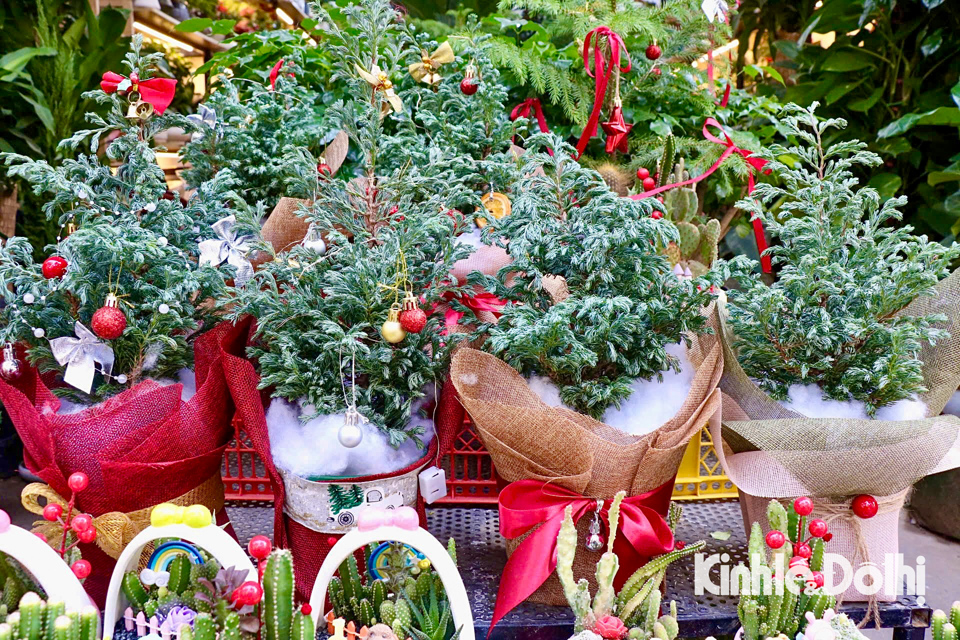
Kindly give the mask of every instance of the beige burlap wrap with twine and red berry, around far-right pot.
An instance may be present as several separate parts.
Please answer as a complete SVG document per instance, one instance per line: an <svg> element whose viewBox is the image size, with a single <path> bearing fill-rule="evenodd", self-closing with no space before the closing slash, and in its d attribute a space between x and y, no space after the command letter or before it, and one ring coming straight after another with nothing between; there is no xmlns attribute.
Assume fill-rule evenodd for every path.
<svg viewBox="0 0 960 640"><path fill-rule="evenodd" d="M906 490L928 474L960 464L955 448L960 420L939 415L960 383L960 272L943 280L937 295L918 298L900 313L942 313L948 318L941 326L951 337L927 345L920 354L928 389L921 399L927 404L928 417L903 421L808 418L782 406L747 376L734 353L722 304L718 305L713 326L724 351L719 386L724 394L725 446L718 447L717 453L740 489L748 530L754 521L766 524L770 499L809 495L817 505L814 517L831 521L834 535L827 552L843 555L854 570L866 562L883 569L887 554L898 553L899 513ZM711 435L720 442L721 426L712 424ZM848 507L859 494L875 496L886 506L874 518L857 519ZM874 598L854 582L843 598L871 605L896 599L886 591Z"/></svg>

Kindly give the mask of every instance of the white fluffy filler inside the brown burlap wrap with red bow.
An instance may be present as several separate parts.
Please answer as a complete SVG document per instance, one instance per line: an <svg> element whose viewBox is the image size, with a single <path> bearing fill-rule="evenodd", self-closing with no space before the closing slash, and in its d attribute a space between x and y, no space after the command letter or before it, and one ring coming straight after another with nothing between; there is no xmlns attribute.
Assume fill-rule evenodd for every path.
<svg viewBox="0 0 960 640"><path fill-rule="evenodd" d="M680 361L680 372L673 369L665 371L662 382L656 378L634 380L630 385L633 391L620 403L619 409L607 409L603 414L603 422L626 433L643 435L656 431L680 411L690 395L696 368L687 357L685 345L668 345L666 351ZM560 400L560 390L550 378L530 376L527 384L544 404L566 407Z"/></svg>

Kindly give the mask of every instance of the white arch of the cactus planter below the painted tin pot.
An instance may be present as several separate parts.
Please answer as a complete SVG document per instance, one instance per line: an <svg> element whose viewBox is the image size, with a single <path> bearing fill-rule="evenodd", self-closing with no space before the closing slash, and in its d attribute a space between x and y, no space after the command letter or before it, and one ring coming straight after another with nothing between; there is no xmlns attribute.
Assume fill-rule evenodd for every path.
<svg viewBox="0 0 960 640"><path fill-rule="evenodd" d="M320 625L326 624L324 604L327 599L327 587L333 578L333 574L336 573L343 561L352 556L357 549L373 542L386 541L407 544L423 553L430 560L434 570L443 580L443 588L446 590L447 600L450 602L453 626L456 629L461 629L460 640L476 640L470 600L467 598L467 590L463 586L463 579L460 577L460 572L457 571L457 566L453 563L453 559L450 558L446 548L430 532L419 527L417 529L402 529L388 525L371 531L354 529L340 538L337 544L330 549L330 553L327 554L320 566L320 572L313 583L310 607L313 609L311 615L314 625L320 628Z"/></svg>

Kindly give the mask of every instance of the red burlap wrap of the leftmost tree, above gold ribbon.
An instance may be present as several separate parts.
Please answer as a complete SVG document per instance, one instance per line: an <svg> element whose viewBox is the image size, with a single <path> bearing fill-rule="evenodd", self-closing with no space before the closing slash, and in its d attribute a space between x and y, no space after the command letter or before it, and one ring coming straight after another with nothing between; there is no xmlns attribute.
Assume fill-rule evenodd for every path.
<svg viewBox="0 0 960 640"><path fill-rule="evenodd" d="M0 380L0 401L23 440L27 468L66 497L70 474L86 473L90 485L77 506L94 517L173 500L219 474L233 435L233 404L219 355L224 330L221 325L197 339L197 393L187 402L180 399L180 384L146 380L80 413L59 416L60 401L36 370L14 384ZM207 506L222 505L222 491ZM217 520L229 523L222 509ZM86 589L103 606L115 561L95 544L81 545L81 551L93 564Z"/></svg>

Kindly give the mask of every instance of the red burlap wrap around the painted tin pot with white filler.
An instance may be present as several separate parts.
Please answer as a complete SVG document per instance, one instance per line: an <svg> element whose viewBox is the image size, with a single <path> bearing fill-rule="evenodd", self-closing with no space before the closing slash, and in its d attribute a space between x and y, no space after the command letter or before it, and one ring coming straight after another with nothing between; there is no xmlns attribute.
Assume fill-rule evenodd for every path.
<svg viewBox="0 0 960 640"><path fill-rule="evenodd" d="M229 331L224 332L221 342L221 357L226 373L227 386L237 407L237 415L243 421L244 431L250 437L251 446L263 460L267 474L270 476L274 494L274 544L279 548L290 549L293 552L294 571L296 573L298 597L309 600L313 589L313 582L320 570L320 565L327 553L340 536L313 531L294 521L284 513L286 490L283 479L273 464L273 455L270 451L270 437L267 430L265 407L269 405L269 393L260 391L260 377L257 375L253 363L244 354L247 343L252 339L255 331L253 318L245 318ZM391 474L371 475L360 478L339 478L337 484L351 482L369 482L381 480L390 476L403 475L410 471L435 463L439 459L439 451L449 451L457 429L463 424L462 409L457 403L451 403L449 397L451 387L444 385L441 399L434 416L437 428L437 438L433 440L424 457L414 464ZM457 410L460 410L457 422ZM319 444L319 443L318 443ZM318 449L319 451L319 449ZM420 524L426 527L426 514L423 499L417 496L417 511L420 514Z"/></svg>

